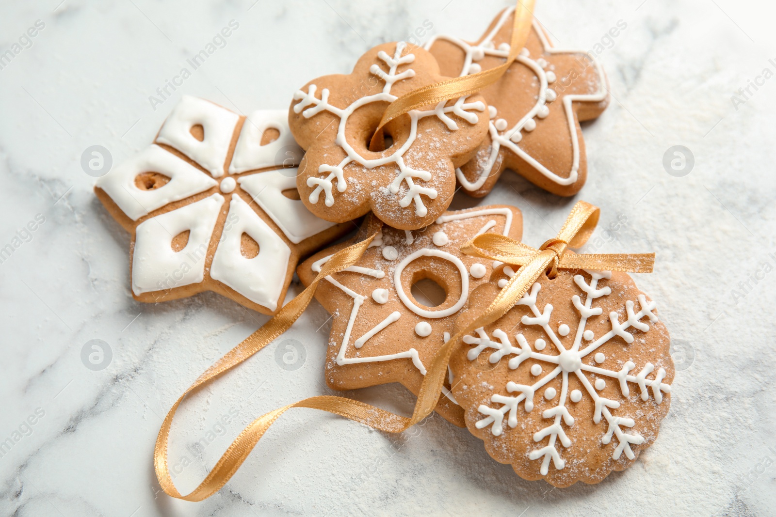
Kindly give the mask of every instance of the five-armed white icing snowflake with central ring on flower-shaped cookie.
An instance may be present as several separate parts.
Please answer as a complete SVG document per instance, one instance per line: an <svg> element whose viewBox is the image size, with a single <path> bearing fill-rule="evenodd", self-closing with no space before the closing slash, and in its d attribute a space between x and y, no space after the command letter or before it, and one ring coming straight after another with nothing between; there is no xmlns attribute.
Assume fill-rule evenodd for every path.
<svg viewBox="0 0 776 517"><path fill-rule="evenodd" d="M372 64L372 67L369 69L369 71L377 78L385 82L383 91L375 95L366 95L364 97L358 98L346 108L338 108L337 106L329 104L329 90L327 88L324 88L322 91L320 91L320 98L317 98L315 96L317 91L317 86L315 84L310 84L307 92L297 90L294 94L293 98L297 101L300 101L293 106L293 111L295 113L301 113L307 119L309 119L311 116L317 115L317 113L322 111L330 112L339 117L340 123L338 126L337 139L335 142L348 155L337 165L320 165L320 167L318 167L318 172L325 173L326 175L324 178L307 178L307 185L314 187L314 190L310 193L310 203L316 204L320 198L320 193L324 192L324 204L326 206L334 205L334 196L332 195L332 188L334 187L333 181L337 181L337 190L339 192L345 191L348 185L345 182L345 173L343 169L351 162L361 164L368 169L386 164L396 164L399 169L399 173L393 180L393 183L391 183L389 186L390 192L393 194L398 194L402 182L405 182L407 184L407 194L404 195L403 198L400 198L400 207L407 208L407 206L414 202L415 214L417 216L424 217L428 214L428 209L426 209L425 205L423 204L421 195L425 195L430 199L435 199L437 197L437 191L435 188L422 187L420 184L417 184L416 181L430 181L431 172L415 170L404 164L404 153L406 153L407 150L412 146L415 138L417 137L417 121L424 117L436 116L440 121L445 123L445 126L447 126L448 129L455 131L458 129L458 125L447 114L452 112L466 120L466 122L469 122L469 124L476 124L478 117L470 110L483 112L485 110L485 104L483 102L478 101L467 103L467 97L461 97L452 106L445 107L445 103L447 102L445 100L436 105L435 109L427 111L418 111L417 109L411 110L408 112L411 120L410 136L402 146L400 146L397 150L391 153L390 156L387 157L367 160L359 153L357 153L355 149L353 149L345 137L345 127L348 124L348 117L350 117L350 115L352 115L356 109L359 109L363 105L371 104L372 102L395 101L397 96L390 93L393 84L398 81L404 81L404 79L414 77L415 72L411 68L407 68L403 72L397 74L397 68L400 65L410 64L415 60L415 56L412 53L408 53L406 56L401 55L402 51L406 47L407 43L397 43L396 53L394 53L393 57L390 57L383 50L377 54L378 59L383 61L383 64L385 64L389 70L386 72L378 64Z"/></svg>

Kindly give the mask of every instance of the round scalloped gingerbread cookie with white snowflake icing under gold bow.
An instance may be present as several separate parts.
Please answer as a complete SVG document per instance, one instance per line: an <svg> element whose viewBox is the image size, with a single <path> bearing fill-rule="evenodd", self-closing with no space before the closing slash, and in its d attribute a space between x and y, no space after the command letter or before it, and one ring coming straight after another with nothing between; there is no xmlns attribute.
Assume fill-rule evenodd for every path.
<svg viewBox="0 0 776 517"><path fill-rule="evenodd" d="M503 271L472 293L459 326L514 274ZM674 378L669 345L655 302L628 274L542 274L506 315L464 337L452 392L490 456L521 477L598 483L656 439Z"/></svg>

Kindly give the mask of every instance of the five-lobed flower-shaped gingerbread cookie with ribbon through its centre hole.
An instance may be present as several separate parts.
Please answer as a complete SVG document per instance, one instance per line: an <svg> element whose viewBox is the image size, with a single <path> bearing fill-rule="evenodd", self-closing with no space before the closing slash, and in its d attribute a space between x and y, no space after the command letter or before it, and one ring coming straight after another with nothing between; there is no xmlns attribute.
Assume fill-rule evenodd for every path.
<svg viewBox="0 0 776 517"><path fill-rule="evenodd" d="M385 127L386 149L368 149L390 102L442 79L426 50L384 43L365 53L352 74L317 78L296 91L289 126L307 151L296 182L307 208L335 222L371 209L398 229L422 228L442 215L456 188L456 167L487 134L480 95L402 115Z"/></svg>

